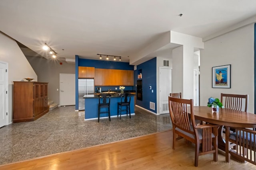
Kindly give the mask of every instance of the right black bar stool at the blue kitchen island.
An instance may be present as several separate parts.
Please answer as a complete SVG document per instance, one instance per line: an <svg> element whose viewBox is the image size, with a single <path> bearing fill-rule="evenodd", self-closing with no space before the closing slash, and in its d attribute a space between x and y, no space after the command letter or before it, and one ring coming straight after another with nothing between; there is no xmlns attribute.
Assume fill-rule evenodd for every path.
<svg viewBox="0 0 256 170"><path fill-rule="evenodd" d="M121 96L121 102L117 103L117 117L120 113L120 119L123 111L126 111L126 115L128 116L128 111L129 115L131 118L131 110L130 110L130 102L131 102L131 96L129 93L125 93ZM125 109L122 109L123 106L125 106Z"/></svg>

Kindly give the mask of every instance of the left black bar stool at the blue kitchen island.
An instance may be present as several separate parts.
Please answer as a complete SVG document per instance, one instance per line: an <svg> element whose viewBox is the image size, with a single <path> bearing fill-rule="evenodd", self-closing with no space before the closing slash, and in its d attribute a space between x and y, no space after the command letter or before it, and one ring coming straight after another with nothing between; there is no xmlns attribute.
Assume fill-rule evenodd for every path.
<svg viewBox="0 0 256 170"><path fill-rule="evenodd" d="M99 104L98 104L98 122L100 122L100 114L101 113L108 113L108 118L110 120L110 96L111 94L99 94ZM100 111L101 108L108 108L108 111Z"/></svg>

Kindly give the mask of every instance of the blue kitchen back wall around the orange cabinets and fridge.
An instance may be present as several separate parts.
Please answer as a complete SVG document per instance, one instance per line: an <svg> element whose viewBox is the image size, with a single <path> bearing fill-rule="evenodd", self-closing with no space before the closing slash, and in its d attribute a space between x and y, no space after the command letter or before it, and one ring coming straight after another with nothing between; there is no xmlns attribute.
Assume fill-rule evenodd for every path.
<svg viewBox="0 0 256 170"><path fill-rule="evenodd" d="M78 66L87 66L87 67L95 67L95 68L105 68L105 69L117 69L117 70L133 70L134 66L125 62L116 62L116 61L105 61L105 60L88 60L88 59L80 59L78 55L75 56L75 70L76 70L76 110L78 110ZM135 84L136 82L134 82ZM104 86L102 91L106 91L105 89L115 90L116 86ZM95 87L96 90L96 87ZM119 90L119 86L118 86ZM125 90L135 90L134 86L126 86Z"/></svg>

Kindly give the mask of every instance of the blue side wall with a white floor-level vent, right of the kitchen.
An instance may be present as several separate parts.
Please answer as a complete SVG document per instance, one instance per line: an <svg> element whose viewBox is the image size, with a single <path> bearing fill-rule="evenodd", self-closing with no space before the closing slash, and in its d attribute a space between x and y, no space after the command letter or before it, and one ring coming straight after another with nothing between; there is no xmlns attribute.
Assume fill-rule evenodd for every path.
<svg viewBox="0 0 256 170"><path fill-rule="evenodd" d="M142 78L138 79L138 74L142 73ZM137 80L142 80L142 101L136 100L136 105L157 113L156 103L156 57L145 63L137 65L134 70L134 84ZM149 89L151 86L152 89ZM153 90L153 93L152 93ZM150 109L149 102L155 103L155 110Z"/></svg>

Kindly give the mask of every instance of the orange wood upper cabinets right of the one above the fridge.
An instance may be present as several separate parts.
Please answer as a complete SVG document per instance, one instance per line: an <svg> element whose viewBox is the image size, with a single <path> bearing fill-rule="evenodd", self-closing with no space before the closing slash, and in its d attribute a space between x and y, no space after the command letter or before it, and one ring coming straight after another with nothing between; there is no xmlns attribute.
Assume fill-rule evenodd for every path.
<svg viewBox="0 0 256 170"><path fill-rule="evenodd" d="M95 86L133 86L133 70L95 68Z"/></svg>

